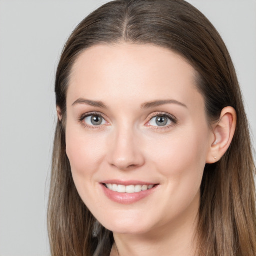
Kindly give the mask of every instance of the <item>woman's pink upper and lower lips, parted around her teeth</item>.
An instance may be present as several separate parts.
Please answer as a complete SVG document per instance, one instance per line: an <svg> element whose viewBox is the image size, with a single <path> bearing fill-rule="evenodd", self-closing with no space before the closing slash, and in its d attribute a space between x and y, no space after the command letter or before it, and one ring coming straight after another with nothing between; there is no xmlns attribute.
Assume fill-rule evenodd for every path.
<svg viewBox="0 0 256 256"><path fill-rule="evenodd" d="M108 189L107 187L105 187L104 184L121 184L121 185L130 185L130 184L152 184L152 183L145 183L145 182L139 182L139 183L134 183L133 181L130 182L109 182L110 180L107 180L107 182L102 182L100 183L104 194L112 201L117 202L117 203L121 203L121 204L131 204L131 203L135 203L145 197L147 197L148 195L150 195L152 192L155 191L155 189L157 188L158 185L155 185L154 187L152 187L151 189L147 189L145 191L141 191L141 192L135 192L135 193L118 193L118 192L114 192L110 189ZM111 180L113 181L113 180ZM103 184L104 183L104 184Z"/></svg>

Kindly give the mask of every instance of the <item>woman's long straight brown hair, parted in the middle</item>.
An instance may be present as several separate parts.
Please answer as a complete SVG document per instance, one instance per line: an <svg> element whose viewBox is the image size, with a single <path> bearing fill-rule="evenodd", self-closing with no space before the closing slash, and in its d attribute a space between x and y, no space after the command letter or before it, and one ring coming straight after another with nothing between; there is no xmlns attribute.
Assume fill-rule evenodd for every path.
<svg viewBox="0 0 256 256"><path fill-rule="evenodd" d="M208 19L183 0L116 0L86 17L67 40L55 81L61 109L53 157L48 231L54 256L109 255L113 236L81 201L65 153L69 75L77 56L99 43L153 44L183 56L197 71L209 122L225 106L237 113L236 131L224 156L206 164L201 184L198 255L256 255L255 165L248 122L235 70L220 35Z"/></svg>

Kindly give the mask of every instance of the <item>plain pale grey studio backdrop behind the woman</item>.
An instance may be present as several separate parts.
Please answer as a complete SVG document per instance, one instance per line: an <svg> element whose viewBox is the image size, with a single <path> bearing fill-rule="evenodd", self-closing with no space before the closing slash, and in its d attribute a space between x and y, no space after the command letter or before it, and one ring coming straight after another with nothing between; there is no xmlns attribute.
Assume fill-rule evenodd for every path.
<svg viewBox="0 0 256 256"><path fill-rule="evenodd" d="M54 74L75 26L106 0L0 0L0 256L48 256ZM256 136L256 0L190 0L233 59Z"/></svg>

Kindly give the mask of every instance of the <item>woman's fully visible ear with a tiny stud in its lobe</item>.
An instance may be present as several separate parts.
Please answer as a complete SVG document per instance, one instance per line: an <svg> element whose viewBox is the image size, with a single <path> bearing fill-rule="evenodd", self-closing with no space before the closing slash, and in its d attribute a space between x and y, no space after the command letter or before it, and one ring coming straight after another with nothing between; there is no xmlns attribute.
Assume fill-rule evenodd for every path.
<svg viewBox="0 0 256 256"><path fill-rule="evenodd" d="M211 141L206 163L217 162L228 149L235 131L236 112L233 107L224 107L219 120L212 124L214 141Z"/></svg>

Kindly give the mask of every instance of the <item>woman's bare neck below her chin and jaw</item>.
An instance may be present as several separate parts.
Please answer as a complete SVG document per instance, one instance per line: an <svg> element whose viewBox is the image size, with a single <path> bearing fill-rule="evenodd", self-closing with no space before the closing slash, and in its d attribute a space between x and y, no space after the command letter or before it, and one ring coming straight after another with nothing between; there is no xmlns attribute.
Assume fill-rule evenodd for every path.
<svg viewBox="0 0 256 256"><path fill-rule="evenodd" d="M175 221L143 234L113 233L115 244L110 256L194 256L196 227L197 214L193 220Z"/></svg>

